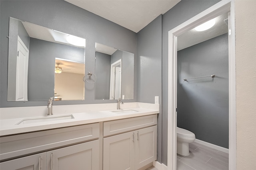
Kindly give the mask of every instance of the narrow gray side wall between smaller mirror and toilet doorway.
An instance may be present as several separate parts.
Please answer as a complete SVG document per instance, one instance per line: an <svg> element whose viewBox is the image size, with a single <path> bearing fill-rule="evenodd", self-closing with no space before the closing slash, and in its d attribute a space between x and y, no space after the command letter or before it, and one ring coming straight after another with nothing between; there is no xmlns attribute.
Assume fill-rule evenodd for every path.
<svg viewBox="0 0 256 170"><path fill-rule="evenodd" d="M162 162L162 15L138 32L137 43L137 101L154 103L159 96L157 160Z"/></svg>

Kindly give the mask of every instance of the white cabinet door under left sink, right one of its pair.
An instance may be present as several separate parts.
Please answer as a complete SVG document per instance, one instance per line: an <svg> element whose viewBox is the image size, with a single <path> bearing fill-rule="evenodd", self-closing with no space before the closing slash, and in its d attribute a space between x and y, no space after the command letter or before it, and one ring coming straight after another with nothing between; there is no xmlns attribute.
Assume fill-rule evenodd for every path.
<svg viewBox="0 0 256 170"><path fill-rule="evenodd" d="M47 170L98 170L99 140L47 152Z"/></svg>

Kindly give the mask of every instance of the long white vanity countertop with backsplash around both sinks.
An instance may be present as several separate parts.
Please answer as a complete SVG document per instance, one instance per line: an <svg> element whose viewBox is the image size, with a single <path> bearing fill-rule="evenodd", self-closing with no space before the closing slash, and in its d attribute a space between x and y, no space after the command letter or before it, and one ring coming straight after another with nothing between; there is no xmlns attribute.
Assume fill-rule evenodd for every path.
<svg viewBox="0 0 256 170"><path fill-rule="evenodd" d="M79 107L79 109L78 109ZM76 109L75 109L76 108ZM159 113L158 104L126 103L122 110L135 110L134 113L115 113L116 104L65 105L53 107L54 115L73 115L73 119L44 121L39 123L17 124L23 119L46 117L45 107L12 107L1 108L0 136L27 133L46 129L54 129L116 119L125 119ZM47 108L46 108L47 109ZM105 109L105 110L104 110ZM58 110L58 111L57 111ZM74 110L74 111L72 111ZM54 112L55 111L55 112ZM18 114L16 112L19 112ZM34 113L34 114L33 114Z"/></svg>

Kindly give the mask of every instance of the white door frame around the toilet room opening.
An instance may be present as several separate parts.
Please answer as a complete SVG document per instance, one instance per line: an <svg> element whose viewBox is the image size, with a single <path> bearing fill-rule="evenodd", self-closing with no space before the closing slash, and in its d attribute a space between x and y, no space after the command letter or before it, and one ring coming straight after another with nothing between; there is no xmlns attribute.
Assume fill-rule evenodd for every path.
<svg viewBox="0 0 256 170"><path fill-rule="evenodd" d="M177 161L177 37L220 14L230 11L229 74L229 170L236 169L236 60L234 0L222 0L190 20L168 31L168 170L176 170Z"/></svg>

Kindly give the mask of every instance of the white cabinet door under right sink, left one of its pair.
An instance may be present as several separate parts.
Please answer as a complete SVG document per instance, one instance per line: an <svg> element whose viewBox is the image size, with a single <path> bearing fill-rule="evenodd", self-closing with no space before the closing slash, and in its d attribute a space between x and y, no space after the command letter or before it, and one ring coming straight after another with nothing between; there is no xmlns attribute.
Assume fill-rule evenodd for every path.
<svg viewBox="0 0 256 170"><path fill-rule="evenodd" d="M134 131L103 140L103 170L134 170Z"/></svg>

